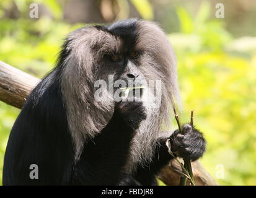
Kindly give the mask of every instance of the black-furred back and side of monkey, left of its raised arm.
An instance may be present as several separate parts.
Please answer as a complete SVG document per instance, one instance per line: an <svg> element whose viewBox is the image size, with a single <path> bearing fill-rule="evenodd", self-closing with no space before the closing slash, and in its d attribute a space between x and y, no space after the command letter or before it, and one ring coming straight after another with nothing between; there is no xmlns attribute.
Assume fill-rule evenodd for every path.
<svg viewBox="0 0 256 198"><path fill-rule="evenodd" d="M37 85L15 121L4 158L4 185L68 184L74 152L59 75L56 69ZM31 164L38 165L40 179L29 178Z"/></svg>

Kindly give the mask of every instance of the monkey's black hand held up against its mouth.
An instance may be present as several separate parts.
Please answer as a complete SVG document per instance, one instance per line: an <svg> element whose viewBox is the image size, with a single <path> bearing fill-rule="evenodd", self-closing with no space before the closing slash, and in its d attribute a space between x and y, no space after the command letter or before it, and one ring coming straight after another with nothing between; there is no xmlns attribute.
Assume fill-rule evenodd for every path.
<svg viewBox="0 0 256 198"><path fill-rule="evenodd" d="M146 119L146 108L141 101L121 101L115 105L115 113L131 129L138 129L141 121Z"/></svg>

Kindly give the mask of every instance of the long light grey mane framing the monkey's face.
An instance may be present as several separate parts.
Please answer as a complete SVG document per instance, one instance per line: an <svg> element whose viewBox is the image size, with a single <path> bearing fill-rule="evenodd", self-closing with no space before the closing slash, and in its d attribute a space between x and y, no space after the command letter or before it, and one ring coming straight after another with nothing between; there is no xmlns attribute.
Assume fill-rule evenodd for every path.
<svg viewBox="0 0 256 198"><path fill-rule="evenodd" d="M173 99L180 105L175 54L165 33L154 22L145 20L138 20L136 29L136 49L146 52L143 55L145 67L142 67L141 72L146 80L161 79L162 95L159 109L150 108L150 102L144 103L147 119L142 121L131 141L130 156L123 170L125 173L133 173L138 164L143 166L151 161L157 139L170 136L170 133L163 134L161 131L163 126L164 131L169 129ZM92 46L102 46L104 52L114 45L118 48L121 41L94 27L80 28L70 33L68 40L67 49L71 53L64 61L61 92L77 161L85 142L99 134L113 114L113 102L94 100L94 82L100 79L100 76L94 76L94 67L100 57L94 54ZM151 90L148 92L151 93ZM151 97L154 98L152 94Z"/></svg>

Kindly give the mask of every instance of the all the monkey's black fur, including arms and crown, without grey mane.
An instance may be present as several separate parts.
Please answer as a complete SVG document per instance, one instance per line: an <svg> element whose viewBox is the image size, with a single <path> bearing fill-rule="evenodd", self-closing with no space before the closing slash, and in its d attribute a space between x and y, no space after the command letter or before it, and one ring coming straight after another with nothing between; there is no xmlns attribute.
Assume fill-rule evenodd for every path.
<svg viewBox="0 0 256 198"><path fill-rule="evenodd" d="M121 21L104 31L123 37L127 43L136 40L136 20ZM134 175L123 174L131 139L146 113L141 102L115 105L112 119L100 134L84 145L78 161L66 107L60 88L63 62L69 54L63 45L55 69L34 88L22 108L9 137L4 158L4 185L155 185L156 174L171 160L166 139L159 139L151 163L139 166ZM97 116L97 115L95 115ZM177 155L196 160L205 151L200 132L183 128L170 137ZM38 179L30 179L29 166L38 165Z"/></svg>

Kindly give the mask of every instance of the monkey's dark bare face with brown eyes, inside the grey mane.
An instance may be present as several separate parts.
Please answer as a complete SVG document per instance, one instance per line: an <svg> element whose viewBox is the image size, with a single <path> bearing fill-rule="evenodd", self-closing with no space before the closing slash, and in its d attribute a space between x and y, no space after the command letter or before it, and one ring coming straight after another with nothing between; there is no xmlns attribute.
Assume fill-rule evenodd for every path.
<svg viewBox="0 0 256 198"><path fill-rule="evenodd" d="M144 88L147 86L147 79L143 74L143 51L136 49L118 51L108 51L102 57L100 66L97 68L98 78L108 82L108 86L113 86L113 91L119 88L136 88L132 92L136 97L143 95ZM111 87L108 87L111 90ZM135 93L136 91L136 93ZM121 92L120 92L121 94Z"/></svg>

